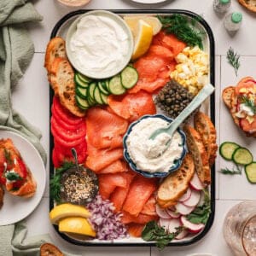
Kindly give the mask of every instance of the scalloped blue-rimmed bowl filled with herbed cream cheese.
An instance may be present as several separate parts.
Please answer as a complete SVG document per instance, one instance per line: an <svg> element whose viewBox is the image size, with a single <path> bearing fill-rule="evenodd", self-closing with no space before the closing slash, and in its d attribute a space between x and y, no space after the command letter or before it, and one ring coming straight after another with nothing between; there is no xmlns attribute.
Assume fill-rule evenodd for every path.
<svg viewBox="0 0 256 256"><path fill-rule="evenodd" d="M157 151L155 152L155 150L159 150L161 153L161 145L165 144L165 137L161 137L159 145L154 145L154 143L157 142L153 140L149 141L148 139L155 129L160 128L160 125L170 123L172 123L172 119L163 114L144 115L141 119L131 123L123 138L123 145L124 158L133 171L142 174L144 177L166 177L171 172L175 172L182 165L183 158L187 154L188 149L186 146L186 136L180 128L177 129L172 137L172 143L169 146L170 151L168 152L167 149L166 152L160 156L156 156L155 153L157 153ZM142 134L141 140L138 137L140 134ZM147 139L148 143L146 142ZM156 139L157 137L154 140ZM175 143L178 147L175 147ZM135 148L134 146L138 150L133 150L133 148ZM152 159L150 159L151 156ZM144 157L145 159L143 159Z"/></svg>

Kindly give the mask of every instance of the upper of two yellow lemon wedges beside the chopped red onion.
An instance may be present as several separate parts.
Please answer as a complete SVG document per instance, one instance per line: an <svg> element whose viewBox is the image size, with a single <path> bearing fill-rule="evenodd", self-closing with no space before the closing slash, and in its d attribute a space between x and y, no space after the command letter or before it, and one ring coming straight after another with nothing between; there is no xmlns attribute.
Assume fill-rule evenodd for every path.
<svg viewBox="0 0 256 256"><path fill-rule="evenodd" d="M58 224L61 218L71 216L88 218L90 217L90 212L84 207L75 206L73 204L68 203L58 205L49 212L49 219L51 224Z"/></svg>

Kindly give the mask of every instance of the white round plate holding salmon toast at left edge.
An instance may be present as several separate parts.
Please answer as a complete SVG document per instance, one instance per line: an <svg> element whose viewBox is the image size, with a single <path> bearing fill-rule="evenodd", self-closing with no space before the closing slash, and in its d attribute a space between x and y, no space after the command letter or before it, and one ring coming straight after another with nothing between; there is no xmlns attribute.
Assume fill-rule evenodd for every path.
<svg viewBox="0 0 256 256"><path fill-rule="evenodd" d="M15 154L14 162L22 160L24 163L22 168L26 168L26 177L24 177L24 182L20 189L15 187L9 189L9 181L3 185L4 188L1 187L2 193L0 194L3 195L3 206L0 209L0 225L15 224L26 218L38 207L44 195L46 172L44 162L37 149L26 138L12 131L0 131L0 138L1 149L3 149L1 152L5 154L2 166L9 162L6 152L11 152L11 154ZM4 146L3 143L5 143ZM12 170L16 171L15 167L9 170L9 173L14 173Z"/></svg>

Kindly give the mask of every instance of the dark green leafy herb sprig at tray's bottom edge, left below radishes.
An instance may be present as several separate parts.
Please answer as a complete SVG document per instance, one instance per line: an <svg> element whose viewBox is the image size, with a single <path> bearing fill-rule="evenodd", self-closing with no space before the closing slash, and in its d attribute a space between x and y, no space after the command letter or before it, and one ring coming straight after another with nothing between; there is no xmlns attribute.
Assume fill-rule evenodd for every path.
<svg viewBox="0 0 256 256"><path fill-rule="evenodd" d="M156 247L163 250L170 241L172 241L180 232L183 231L183 227L178 227L174 233L168 233L163 227L160 227L156 221L150 221L145 225L142 238L144 241L155 241Z"/></svg>

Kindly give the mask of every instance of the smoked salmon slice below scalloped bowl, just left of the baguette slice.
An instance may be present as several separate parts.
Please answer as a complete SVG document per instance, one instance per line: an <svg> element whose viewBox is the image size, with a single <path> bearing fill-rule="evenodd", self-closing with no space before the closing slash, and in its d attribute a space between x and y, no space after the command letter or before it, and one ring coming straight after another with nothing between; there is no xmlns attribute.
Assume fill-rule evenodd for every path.
<svg viewBox="0 0 256 256"><path fill-rule="evenodd" d="M138 216L138 214L142 212L144 204L148 201L156 188L154 178L137 175L131 182L123 210L131 215Z"/></svg>

